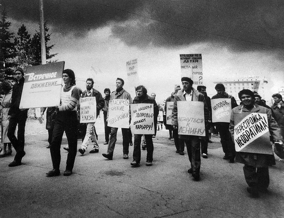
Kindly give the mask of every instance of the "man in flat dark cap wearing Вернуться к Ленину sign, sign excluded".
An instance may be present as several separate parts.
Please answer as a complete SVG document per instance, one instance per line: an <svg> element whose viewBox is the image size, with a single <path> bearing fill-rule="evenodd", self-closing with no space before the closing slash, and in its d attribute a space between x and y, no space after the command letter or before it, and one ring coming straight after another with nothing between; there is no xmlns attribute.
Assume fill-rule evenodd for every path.
<svg viewBox="0 0 284 218"><path fill-rule="evenodd" d="M174 107L172 111L172 126L173 129L178 129L178 106L177 101L201 101L204 104L204 120L205 125L208 125L209 111L207 104L205 102L205 97L203 94L198 92L192 87L193 81L189 77L181 78L183 89L179 90L174 97ZM189 108L190 110L191 108ZM184 139L186 144L187 153L189 156L189 161L191 168L188 173L191 173L194 180L199 180L200 171L200 137L193 135L179 135L179 138Z"/></svg>

